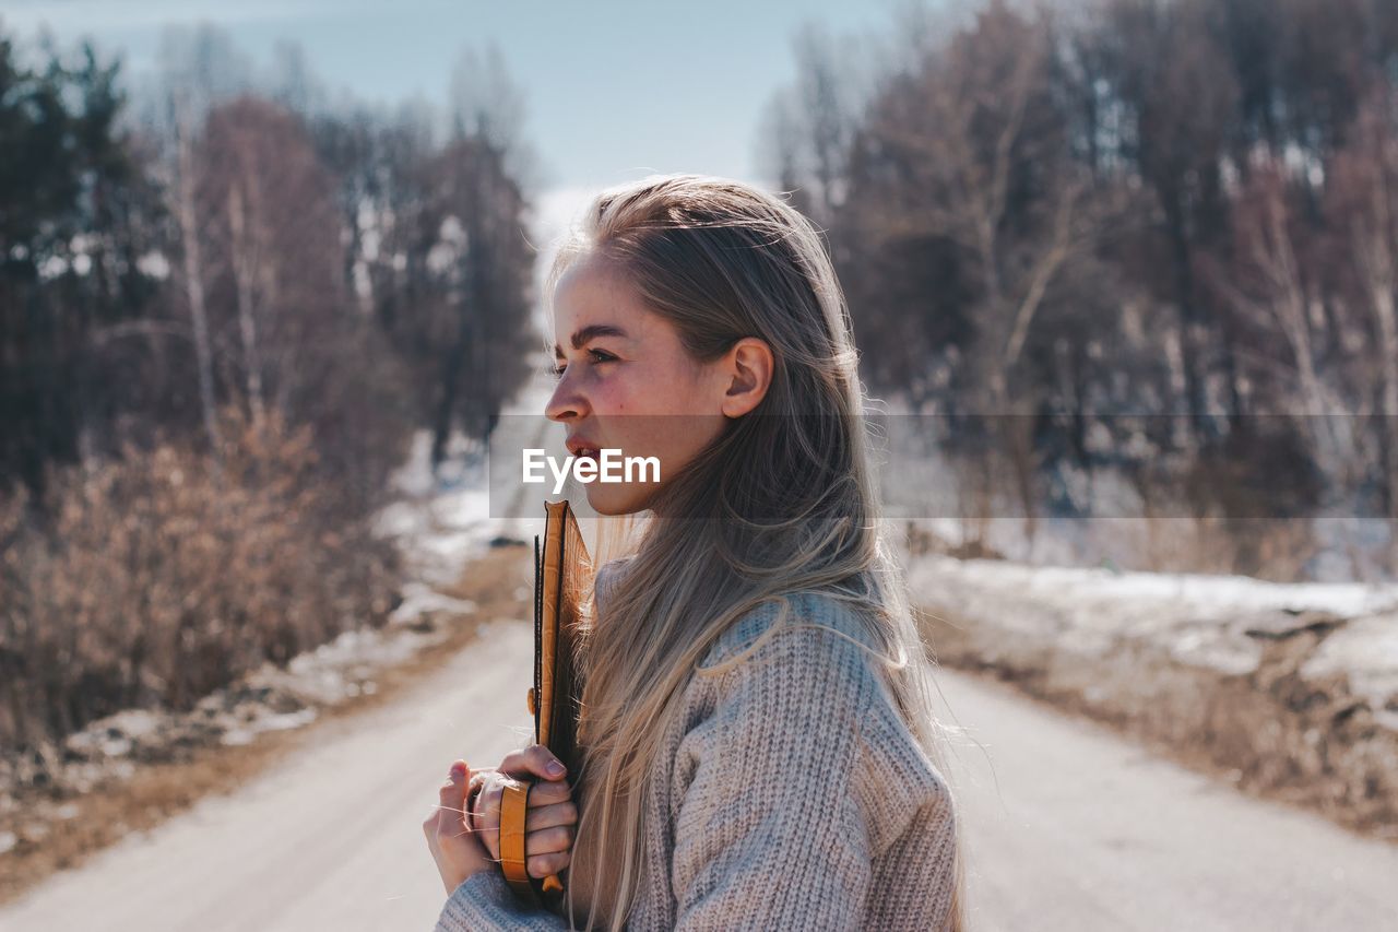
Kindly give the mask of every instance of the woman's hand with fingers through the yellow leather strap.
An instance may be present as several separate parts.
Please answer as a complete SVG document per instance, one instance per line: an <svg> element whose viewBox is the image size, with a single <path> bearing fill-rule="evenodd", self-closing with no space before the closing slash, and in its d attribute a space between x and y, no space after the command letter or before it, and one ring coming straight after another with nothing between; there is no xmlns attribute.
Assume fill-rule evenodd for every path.
<svg viewBox="0 0 1398 932"><path fill-rule="evenodd" d="M577 806L572 800L568 774L549 771L549 764L559 761L542 744L530 744L506 754L498 768L475 771L471 778L473 788L480 785L470 806L471 824L495 862L500 859L500 799L505 784L516 778L541 778L530 789L528 809L524 813L524 868L531 877L558 873L572 859Z"/></svg>

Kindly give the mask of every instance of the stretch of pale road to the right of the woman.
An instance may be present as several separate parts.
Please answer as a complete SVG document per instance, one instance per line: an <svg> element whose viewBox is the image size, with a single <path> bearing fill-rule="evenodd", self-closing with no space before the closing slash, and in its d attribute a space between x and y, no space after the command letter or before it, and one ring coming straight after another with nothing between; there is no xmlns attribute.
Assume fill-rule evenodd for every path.
<svg viewBox="0 0 1398 932"><path fill-rule="evenodd" d="M939 682L984 746L949 767L967 784L973 929L1398 929L1398 845L1244 796L1007 686Z"/></svg>

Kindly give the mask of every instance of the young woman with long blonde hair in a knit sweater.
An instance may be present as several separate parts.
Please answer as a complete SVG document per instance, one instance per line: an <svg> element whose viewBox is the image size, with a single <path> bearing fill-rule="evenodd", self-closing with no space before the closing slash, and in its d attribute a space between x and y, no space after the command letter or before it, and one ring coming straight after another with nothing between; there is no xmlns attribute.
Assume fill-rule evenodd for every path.
<svg viewBox="0 0 1398 932"><path fill-rule="evenodd" d="M653 176L596 199L548 294L548 417L660 479L587 486L643 523L597 575L583 772L540 746L456 763L424 824L438 931L962 929L930 666L819 232L747 185ZM526 772L528 869L568 869L565 917L492 862L499 774Z"/></svg>

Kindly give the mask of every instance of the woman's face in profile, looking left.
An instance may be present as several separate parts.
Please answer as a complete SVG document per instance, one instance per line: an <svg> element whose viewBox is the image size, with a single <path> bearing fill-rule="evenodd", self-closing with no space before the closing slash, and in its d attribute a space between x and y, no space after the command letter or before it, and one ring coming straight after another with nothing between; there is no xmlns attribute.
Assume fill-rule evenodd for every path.
<svg viewBox="0 0 1398 932"><path fill-rule="evenodd" d="M558 281L554 365L558 388L545 414L568 428L569 453L596 460L603 449L619 449L622 458L653 456L660 465L658 481L636 469L633 481L586 483L587 504L598 514L647 508L723 430L733 381L723 360L693 360L674 325L646 309L596 255Z"/></svg>

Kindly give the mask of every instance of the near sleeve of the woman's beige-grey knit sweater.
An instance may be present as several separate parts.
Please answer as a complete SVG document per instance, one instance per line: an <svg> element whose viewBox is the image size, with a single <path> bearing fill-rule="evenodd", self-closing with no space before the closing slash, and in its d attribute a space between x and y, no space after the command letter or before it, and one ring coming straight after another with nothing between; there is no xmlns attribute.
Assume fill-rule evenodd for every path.
<svg viewBox="0 0 1398 932"><path fill-rule="evenodd" d="M872 852L851 781L877 689L867 658L798 627L720 676L675 826L677 928L860 926Z"/></svg>

